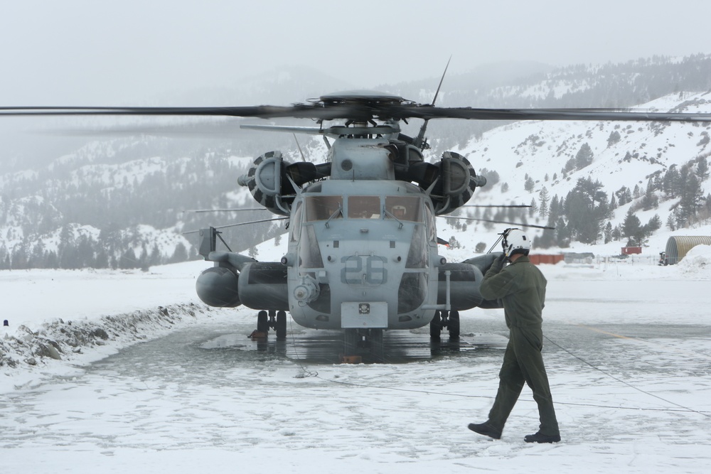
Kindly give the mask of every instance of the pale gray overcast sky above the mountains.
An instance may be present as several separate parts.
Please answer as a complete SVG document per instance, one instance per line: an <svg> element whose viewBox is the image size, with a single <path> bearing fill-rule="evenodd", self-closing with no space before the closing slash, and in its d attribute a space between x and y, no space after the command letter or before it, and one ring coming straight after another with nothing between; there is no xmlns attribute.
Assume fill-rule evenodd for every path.
<svg viewBox="0 0 711 474"><path fill-rule="evenodd" d="M126 104L294 64L368 88L449 55L456 74L711 53L710 18L707 0L0 0L0 105Z"/></svg>

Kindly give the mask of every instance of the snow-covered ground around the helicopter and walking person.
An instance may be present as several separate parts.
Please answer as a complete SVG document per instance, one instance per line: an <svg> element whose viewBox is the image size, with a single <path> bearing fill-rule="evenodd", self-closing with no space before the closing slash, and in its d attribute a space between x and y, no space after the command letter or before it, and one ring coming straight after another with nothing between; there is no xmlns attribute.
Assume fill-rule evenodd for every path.
<svg viewBox="0 0 711 474"><path fill-rule="evenodd" d="M2 472L708 472L711 247L676 266L542 266L562 441L535 446L523 443L537 426L528 388L501 440L466 430L491 406L501 350L355 366L255 358L229 342L253 312L194 296L205 266L0 272L0 347L16 362L0 367ZM95 337L29 364L33 344L70 340L69 321ZM463 315L465 338L483 325L506 334L500 310ZM203 365L181 352L220 344L232 352L198 351Z"/></svg>

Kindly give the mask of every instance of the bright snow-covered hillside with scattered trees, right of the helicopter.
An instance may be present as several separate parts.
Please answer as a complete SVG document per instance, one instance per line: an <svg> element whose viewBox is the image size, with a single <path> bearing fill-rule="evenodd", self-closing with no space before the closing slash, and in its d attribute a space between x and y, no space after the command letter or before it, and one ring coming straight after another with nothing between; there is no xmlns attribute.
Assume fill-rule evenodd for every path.
<svg viewBox="0 0 711 474"><path fill-rule="evenodd" d="M668 95L641 104L638 108L649 111L710 112L711 95L707 92ZM470 204L533 203L540 208L544 188L547 198L552 200L556 197L565 198L579 185L579 180L599 181L599 190L606 194L607 202L610 203L614 198L619 203L602 222L603 225L610 222L614 228L624 224L629 210L642 223L648 222L655 215L658 215L661 222L668 222L669 215L679 207L681 198L665 192L663 178L671 174L670 171L685 166L691 173L699 170L701 162L707 167L707 157L711 155L708 139L710 130L708 124L518 122L488 131L481 139L469 141L458 151L467 156L476 169L483 170L485 176L501 177L500 181L478 190ZM581 149L586 148L592 152L592 161L580 168L577 165L571 167L570 163L575 162ZM708 173L699 185L705 198L700 200L700 211L696 219L690 222L693 228L680 231L682 235L711 233L710 200L706 197L711 191ZM656 205L646 208L643 201L648 188ZM625 194L628 196L627 202L620 198L620 195ZM469 215L475 213L469 210ZM476 217L491 219L492 215L476 214ZM540 210L506 217L513 217L515 222L523 219L538 225L548 223ZM451 233L459 242L471 242L472 245L468 246L471 249L479 239L493 242L496 232L492 233L492 229L491 225L471 224L467 232L461 232L450 225L441 226L439 232L440 237L445 239L449 239ZM653 245L655 250L659 249L657 252L663 250L665 239L671 231L663 227L656 232L658 238L647 243ZM540 230L530 232L542 235ZM618 237L608 244L600 229L599 239L594 243L597 244L597 252L602 250L600 244L608 244L602 252L619 254L619 247L625 246L626 242L627 238ZM558 246L553 247L552 250L557 251ZM585 246L572 242L570 247L584 249Z"/></svg>

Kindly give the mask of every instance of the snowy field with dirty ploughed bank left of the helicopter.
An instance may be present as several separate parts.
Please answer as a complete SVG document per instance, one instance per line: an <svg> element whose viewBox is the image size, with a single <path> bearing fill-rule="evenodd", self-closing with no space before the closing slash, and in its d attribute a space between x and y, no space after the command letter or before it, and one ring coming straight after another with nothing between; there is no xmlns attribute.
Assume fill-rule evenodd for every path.
<svg viewBox="0 0 711 474"><path fill-rule="evenodd" d="M210 317L195 293L208 266L0 271L0 393Z"/></svg>

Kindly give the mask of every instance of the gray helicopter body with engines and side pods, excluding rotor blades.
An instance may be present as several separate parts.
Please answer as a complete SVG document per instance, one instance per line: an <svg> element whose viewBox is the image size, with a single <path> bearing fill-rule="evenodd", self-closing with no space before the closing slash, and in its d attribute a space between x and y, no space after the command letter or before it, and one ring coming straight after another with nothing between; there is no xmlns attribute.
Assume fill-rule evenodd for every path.
<svg viewBox="0 0 711 474"><path fill-rule="evenodd" d="M328 133L337 138L326 163L290 164L270 151L238 180L264 208L288 216L287 254L257 262L215 252L215 230L203 230L209 238L200 253L215 267L198 277L198 296L211 306L259 309L262 317L289 311L307 328L367 330L366 337L482 304L488 257L447 264L437 247L435 216L486 182L466 158L448 152L437 165L424 163L416 146L399 139L397 124Z"/></svg>

